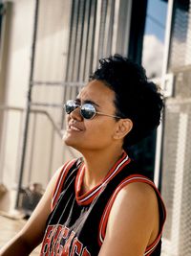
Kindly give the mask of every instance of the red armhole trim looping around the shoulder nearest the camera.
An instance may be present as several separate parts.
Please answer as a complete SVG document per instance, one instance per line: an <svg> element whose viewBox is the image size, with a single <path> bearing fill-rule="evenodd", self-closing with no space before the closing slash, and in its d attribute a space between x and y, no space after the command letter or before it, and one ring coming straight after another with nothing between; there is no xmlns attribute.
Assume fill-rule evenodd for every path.
<svg viewBox="0 0 191 256"><path fill-rule="evenodd" d="M130 183L133 183L133 182L143 182L143 183L147 183L147 184L151 185L154 188L157 195L159 196L161 206L162 206L163 220L162 220L162 223L159 227L158 237L156 238L154 243L150 244L146 248L146 251L144 253L144 256L146 256L146 255L149 256L154 251L155 247L159 243L161 233L162 233L163 224L164 224L164 221L166 219L166 211L165 211L165 206L164 206L163 200L160 197L159 190L157 189L156 185L153 183L152 180L150 180L149 178L147 178L146 176L143 176L143 175L130 175L130 176L126 177L122 182L120 182L120 184L117 186L117 189L115 190L113 196L109 199L109 201L108 201L108 203L105 207L105 210L104 210L103 215L101 217L101 221L99 223L98 244L101 246L101 244L103 243L103 240L105 238L106 227L107 227L107 222L108 222L108 219L109 219L110 211L112 209L112 206L113 206L113 203L114 203L115 199L117 198L118 192L123 187L125 187L126 185L128 185Z"/></svg>

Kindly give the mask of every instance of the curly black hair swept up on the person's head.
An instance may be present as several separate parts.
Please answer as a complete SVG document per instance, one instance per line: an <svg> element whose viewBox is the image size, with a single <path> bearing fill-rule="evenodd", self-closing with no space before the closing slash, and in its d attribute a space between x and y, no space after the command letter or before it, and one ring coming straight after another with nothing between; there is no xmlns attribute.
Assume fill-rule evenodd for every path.
<svg viewBox="0 0 191 256"><path fill-rule="evenodd" d="M158 86L148 81L144 68L134 61L116 54L99 59L99 63L90 80L103 81L111 88L116 94L116 115L133 122L124 138L125 150L159 126L163 97Z"/></svg>

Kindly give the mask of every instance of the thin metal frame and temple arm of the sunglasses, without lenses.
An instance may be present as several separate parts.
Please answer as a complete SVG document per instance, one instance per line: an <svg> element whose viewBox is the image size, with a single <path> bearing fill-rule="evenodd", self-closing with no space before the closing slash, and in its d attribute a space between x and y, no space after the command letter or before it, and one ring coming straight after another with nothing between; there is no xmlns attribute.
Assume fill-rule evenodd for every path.
<svg viewBox="0 0 191 256"><path fill-rule="evenodd" d="M96 107L95 107L95 105L93 105L93 104L87 103L87 104L78 105L78 104L75 103L74 100L69 100L69 101L67 101L67 103L63 106L64 109L65 109L65 112L66 112L68 115L70 115L70 114L74 111L74 109L73 109L72 111L67 112L67 105L69 105L70 102L73 103L74 109L80 107L80 111L79 111L79 112L80 112L80 115L81 115L81 117L82 117L83 119L92 120L93 118L95 118L96 114L97 114L97 115L102 115L102 116L108 116L108 117L113 117L113 118L121 119L121 117L116 116L116 115L110 115L110 114L106 114L106 113L103 113L103 112L96 111ZM94 115L93 115L91 118L84 117L83 112L82 112L84 105L91 105L92 109L94 110Z"/></svg>

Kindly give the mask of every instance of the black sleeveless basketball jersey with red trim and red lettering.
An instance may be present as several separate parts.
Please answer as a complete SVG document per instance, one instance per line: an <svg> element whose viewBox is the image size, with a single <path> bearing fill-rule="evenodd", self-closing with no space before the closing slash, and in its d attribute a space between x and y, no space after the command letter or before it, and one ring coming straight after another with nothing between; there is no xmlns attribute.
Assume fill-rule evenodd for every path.
<svg viewBox="0 0 191 256"><path fill-rule="evenodd" d="M84 169L82 158L63 166L54 189L53 210L47 221L40 255L98 255L117 193L132 182L148 183L156 191L159 199L159 236L146 248L144 255L160 255L165 208L153 181L147 175L140 175L136 163L124 152L100 184L80 195Z"/></svg>

